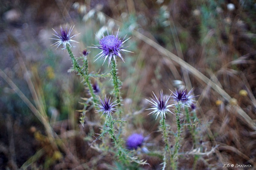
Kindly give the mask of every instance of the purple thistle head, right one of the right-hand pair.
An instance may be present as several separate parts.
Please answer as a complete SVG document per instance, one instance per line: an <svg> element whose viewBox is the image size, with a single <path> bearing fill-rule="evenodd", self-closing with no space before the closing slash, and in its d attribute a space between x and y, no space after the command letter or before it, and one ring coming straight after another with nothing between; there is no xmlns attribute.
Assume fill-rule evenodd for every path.
<svg viewBox="0 0 256 170"><path fill-rule="evenodd" d="M173 93L173 96L171 96L175 101L181 102L184 105L190 106L193 103L194 96L191 94L192 90L187 92L187 89L185 90L176 90Z"/></svg>

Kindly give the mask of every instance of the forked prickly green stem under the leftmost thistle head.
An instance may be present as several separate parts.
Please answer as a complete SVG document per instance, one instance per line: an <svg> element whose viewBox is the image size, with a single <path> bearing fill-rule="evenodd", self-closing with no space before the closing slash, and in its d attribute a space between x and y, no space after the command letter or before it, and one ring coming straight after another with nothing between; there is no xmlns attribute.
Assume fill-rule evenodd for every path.
<svg viewBox="0 0 256 170"><path fill-rule="evenodd" d="M70 46L69 46L69 45L66 45L66 49L67 49L68 54L69 54L69 56L70 56L70 58L71 58L71 61L72 61L72 64L73 64L74 69L76 70L76 72L78 72L78 74L79 74L82 78L84 78L84 81L86 82L86 84L87 84L87 86L88 86L88 88L89 88L89 91L90 91L90 93L91 93L93 102L94 102L94 103L97 103L98 100L97 100L97 98L96 98L96 95L93 93L92 84L91 84L91 81L90 81L90 79L89 79L87 57L86 57L86 59L84 59L84 61L83 61L83 62L84 62L83 67L84 67L84 69L85 69L85 72L83 72L83 69L82 69L82 68L79 66L79 64L77 63L76 58L75 58L75 56L74 56L74 54L73 54L73 52L72 52Z"/></svg>

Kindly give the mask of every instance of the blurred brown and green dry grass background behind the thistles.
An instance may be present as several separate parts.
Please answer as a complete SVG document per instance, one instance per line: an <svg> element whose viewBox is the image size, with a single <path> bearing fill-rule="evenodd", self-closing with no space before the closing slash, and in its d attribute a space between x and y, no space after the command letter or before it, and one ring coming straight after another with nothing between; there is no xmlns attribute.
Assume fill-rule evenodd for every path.
<svg viewBox="0 0 256 170"><path fill-rule="evenodd" d="M89 148L100 133L100 113L87 112L81 126L79 102L89 97L88 89L68 71L67 51L51 46L52 28L67 23L81 33L72 48L77 57L99 44L95 34L106 27L114 34L119 28L121 38L131 37L125 45L133 53L123 54L125 63L117 62L127 121L124 140L137 132L149 137L148 150L163 146L145 98L152 91L174 91L180 80L196 96L201 143L219 147L194 166L193 157L180 157L179 169L256 168L255 1L2 0L0 15L0 169L118 167L114 155ZM108 73L102 60L93 62L99 49L90 50L89 71ZM109 79L91 81L108 94ZM172 126L175 116L167 115L167 122ZM182 138L180 152L190 150L191 137L183 133ZM161 169L156 155L137 155L149 164L141 169Z"/></svg>

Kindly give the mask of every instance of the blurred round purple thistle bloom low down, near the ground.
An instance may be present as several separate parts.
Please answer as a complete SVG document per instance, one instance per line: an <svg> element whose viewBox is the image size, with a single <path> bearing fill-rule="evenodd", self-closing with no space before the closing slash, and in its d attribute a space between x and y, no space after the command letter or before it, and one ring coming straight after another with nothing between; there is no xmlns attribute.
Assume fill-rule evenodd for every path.
<svg viewBox="0 0 256 170"><path fill-rule="evenodd" d="M137 149L141 147L144 141L144 137L141 134L134 133L130 135L126 140L127 149Z"/></svg>

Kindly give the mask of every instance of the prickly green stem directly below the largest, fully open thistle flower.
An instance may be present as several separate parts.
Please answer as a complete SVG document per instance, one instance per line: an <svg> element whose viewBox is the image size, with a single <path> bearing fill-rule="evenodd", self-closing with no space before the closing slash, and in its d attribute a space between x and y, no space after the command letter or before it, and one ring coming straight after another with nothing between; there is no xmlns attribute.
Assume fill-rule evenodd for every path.
<svg viewBox="0 0 256 170"><path fill-rule="evenodd" d="M114 85L114 95L116 97L117 103L119 103L117 106L119 108L118 109L119 110L119 118L121 118L121 113L122 113L122 110L120 108L120 106L121 106L121 97L120 97L121 81L117 77L116 61L114 60L114 58L112 58L112 60L111 60L111 66L112 66L111 75L112 75L113 85Z"/></svg>

